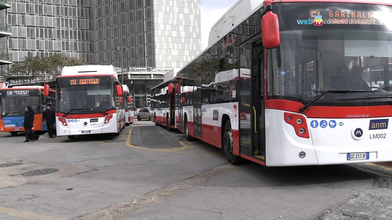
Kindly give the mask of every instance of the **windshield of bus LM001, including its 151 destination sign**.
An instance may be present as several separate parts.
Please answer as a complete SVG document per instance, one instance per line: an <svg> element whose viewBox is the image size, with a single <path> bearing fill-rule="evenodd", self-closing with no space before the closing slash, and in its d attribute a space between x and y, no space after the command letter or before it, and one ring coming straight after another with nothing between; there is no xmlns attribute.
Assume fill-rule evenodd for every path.
<svg viewBox="0 0 392 220"><path fill-rule="evenodd" d="M58 78L56 93L57 112L80 114L115 109L111 76Z"/></svg>

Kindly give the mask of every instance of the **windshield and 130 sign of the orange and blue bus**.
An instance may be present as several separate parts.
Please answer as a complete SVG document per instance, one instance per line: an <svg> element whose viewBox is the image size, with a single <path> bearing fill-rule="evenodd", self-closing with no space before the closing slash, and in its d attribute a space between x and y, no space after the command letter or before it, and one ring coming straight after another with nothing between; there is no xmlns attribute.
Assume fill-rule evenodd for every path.
<svg viewBox="0 0 392 220"><path fill-rule="evenodd" d="M0 90L1 115L17 116L24 115L27 105L33 108L35 114L41 113L41 101L38 89L10 89Z"/></svg>

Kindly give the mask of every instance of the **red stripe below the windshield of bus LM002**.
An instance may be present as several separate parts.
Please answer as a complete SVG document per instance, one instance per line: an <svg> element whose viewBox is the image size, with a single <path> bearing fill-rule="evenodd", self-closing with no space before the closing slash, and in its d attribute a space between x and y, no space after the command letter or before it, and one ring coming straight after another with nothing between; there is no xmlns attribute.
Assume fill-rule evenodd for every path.
<svg viewBox="0 0 392 220"><path fill-rule="evenodd" d="M372 118L392 116L392 105L310 106L305 112L299 112L299 109L303 106L299 102L283 99L270 99L265 101L266 109L297 112L306 115L308 118Z"/></svg>

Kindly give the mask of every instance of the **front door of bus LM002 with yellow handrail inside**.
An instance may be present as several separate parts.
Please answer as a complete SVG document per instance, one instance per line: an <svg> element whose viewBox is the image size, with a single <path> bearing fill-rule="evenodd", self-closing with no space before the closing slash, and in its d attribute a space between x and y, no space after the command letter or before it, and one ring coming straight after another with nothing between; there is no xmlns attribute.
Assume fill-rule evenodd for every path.
<svg viewBox="0 0 392 220"><path fill-rule="evenodd" d="M240 152L265 161L264 48L240 49Z"/></svg>

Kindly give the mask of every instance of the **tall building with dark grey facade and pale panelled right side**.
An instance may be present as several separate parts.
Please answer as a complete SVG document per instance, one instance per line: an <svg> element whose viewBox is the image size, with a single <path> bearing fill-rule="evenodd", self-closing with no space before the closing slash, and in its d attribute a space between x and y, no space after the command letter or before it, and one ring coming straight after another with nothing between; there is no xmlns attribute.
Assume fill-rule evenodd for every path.
<svg viewBox="0 0 392 220"><path fill-rule="evenodd" d="M96 64L183 67L201 52L200 0L96 0L93 4Z"/></svg>

